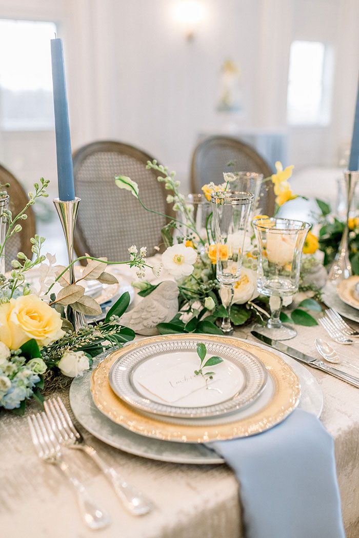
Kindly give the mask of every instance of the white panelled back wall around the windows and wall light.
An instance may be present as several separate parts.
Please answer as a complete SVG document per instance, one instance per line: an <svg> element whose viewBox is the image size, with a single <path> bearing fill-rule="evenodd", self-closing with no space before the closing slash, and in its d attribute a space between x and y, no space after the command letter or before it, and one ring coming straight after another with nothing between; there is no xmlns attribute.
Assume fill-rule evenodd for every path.
<svg viewBox="0 0 359 538"><path fill-rule="evenodd" d="M185 180L198 133L217 128L219 70L241 66L243 125L286 125L289 46L323 40L335 52L332 123L290 128L289 161L334 165L350 141L359 70L357 0L203 0L206 20L188 43L175 0L0 0L0 17L59 23L73 148L117 139L144 148ZM50 46L50 44L49 44ZM53 133L2 133L0 160L30 183L56 181Z"/></svg>

